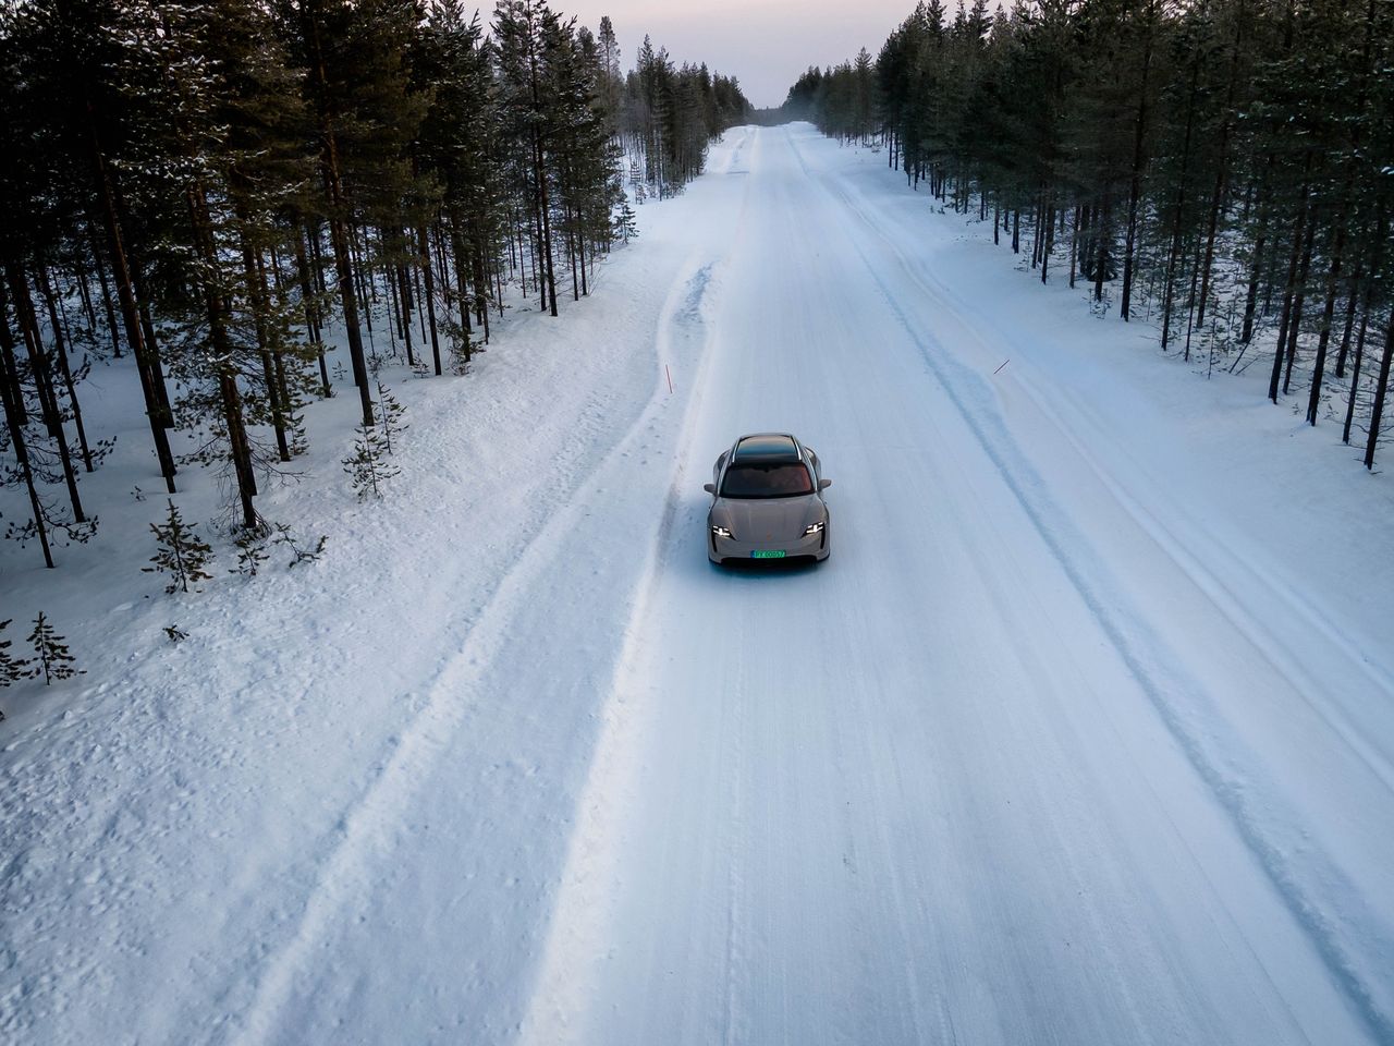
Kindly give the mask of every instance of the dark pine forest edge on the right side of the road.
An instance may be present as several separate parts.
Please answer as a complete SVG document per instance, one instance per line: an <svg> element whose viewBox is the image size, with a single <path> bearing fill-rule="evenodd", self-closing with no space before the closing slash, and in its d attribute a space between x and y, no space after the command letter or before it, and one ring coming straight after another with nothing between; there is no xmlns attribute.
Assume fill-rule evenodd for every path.
<svg viewBox="0 0 1394 1046"><path fill-rule="evenodd" d="M871 61L811 68L790 119L882 142L991 219L1044 282L1157 319L1164 350L1262 361L1269 397L1363 435L1388 391L1394 8L1387 0L921 3Z"/></svg>

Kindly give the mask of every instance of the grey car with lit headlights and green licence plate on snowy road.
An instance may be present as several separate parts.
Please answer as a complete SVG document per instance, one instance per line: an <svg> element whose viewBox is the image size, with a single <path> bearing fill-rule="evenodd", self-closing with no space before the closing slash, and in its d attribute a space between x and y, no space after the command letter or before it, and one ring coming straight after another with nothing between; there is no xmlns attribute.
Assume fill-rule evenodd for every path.
<svg viewBox="0 0 1394 1046"><path fill-rule="evenodd" d="M722 452L707 513L707 558L718 565L757 559L828 558L828 503L818 455L788 432L754 432Z"/></svg>

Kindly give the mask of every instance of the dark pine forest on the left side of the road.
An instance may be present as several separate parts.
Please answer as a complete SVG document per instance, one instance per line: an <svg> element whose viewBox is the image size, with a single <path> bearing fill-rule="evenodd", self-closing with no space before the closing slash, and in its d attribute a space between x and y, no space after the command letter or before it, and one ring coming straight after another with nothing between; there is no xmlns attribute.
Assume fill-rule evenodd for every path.
<svg viewBox="0 0 1394 1046"><path fill-rule="evenodd" d="M488 22L459 0L4 4L0 464L31 510L8 536L52 566L54 529L91 534L81 476L110 444L79 389L103 357L139 375L166 488L209 464L234 529L265 530L326 349L381 425L374 346L464 372L510 294L556 315L633 234L626 177L679 191L746 107L647 39L622 75L608 18L541 0Z"/></svg>

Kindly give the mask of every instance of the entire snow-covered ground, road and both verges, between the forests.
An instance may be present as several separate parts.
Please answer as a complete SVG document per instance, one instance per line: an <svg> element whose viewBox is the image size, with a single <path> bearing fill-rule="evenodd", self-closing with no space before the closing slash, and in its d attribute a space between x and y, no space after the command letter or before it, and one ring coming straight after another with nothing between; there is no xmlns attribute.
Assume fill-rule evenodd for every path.
<svg viewBox="0 0 1394 1046"><path fill-rule="evenodd" d="M0 692L0 1038L1394 1042L1387 477L806 126L640 216L383 502L312 409L322 562L166 597L135 428L0 549L88 669ZM769 428L832 558L718 570Z"/></svg>

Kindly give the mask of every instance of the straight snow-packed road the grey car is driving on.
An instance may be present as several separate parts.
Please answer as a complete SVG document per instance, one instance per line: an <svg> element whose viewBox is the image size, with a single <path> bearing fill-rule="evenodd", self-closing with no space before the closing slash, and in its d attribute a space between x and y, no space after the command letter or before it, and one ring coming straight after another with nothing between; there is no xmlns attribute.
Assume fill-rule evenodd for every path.
<svg viewBox="0 0 1394 1046"><path fill-rule="evenodd" d="M1274 812L1225 792L1193 718L1303 695L1257 644L1209 671L1232 611L1075 444L1090 434L1008 400L1068 483L1032 471L987 365L1019 346L905 266L913 237L810 169L828 149L768 131L742 158L675 524L526 1040L1387 1039L1305 915ZM733 435L771 428L834 477L834 558L715 570L700 484ZM1093 544L1114 526L1094 513L1124 533ZM1299 759L1310 727L1276 745ZM1374 803L1341 845L1387 856L1387 749L1365 763L1323 739ZM1292 784L1264 802L1322 787ZM1383 916L1387 874L1369 883ZM1387 990L1387 968L1363 972Z"/></svg>

